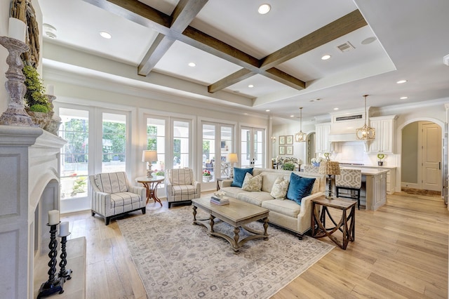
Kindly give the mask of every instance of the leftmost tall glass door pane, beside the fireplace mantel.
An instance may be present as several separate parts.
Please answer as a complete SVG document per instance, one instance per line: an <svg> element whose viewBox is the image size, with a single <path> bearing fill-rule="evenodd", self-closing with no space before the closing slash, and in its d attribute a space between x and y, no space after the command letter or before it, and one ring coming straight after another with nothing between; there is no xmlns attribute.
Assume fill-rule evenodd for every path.
<svg viewBox="0 0 449 299"><path fill-rule="evenodd" d="M59 115L59 135L67 140L61 150L61 199L87 197L89 112L60 108Z"/></svg>

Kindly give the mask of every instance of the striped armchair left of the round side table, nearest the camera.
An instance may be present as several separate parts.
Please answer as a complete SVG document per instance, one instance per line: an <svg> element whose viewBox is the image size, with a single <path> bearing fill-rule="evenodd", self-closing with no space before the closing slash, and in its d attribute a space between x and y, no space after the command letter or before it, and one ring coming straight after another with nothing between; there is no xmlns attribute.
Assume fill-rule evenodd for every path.
<svg viewBox="0 0 449 299"><path fill-rule="evenodd" d="M142 210L145 214L147 190L130 184L125 172L89 175L91 211L105 218L105 225L117 215Z"/></svg>

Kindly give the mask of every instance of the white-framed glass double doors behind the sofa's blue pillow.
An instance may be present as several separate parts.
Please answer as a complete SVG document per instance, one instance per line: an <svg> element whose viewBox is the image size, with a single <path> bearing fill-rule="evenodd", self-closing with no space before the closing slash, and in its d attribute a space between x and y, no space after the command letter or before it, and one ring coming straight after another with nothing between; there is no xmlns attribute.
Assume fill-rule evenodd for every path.
<svg viewBox="0 0 449 299"><path fill-rule="evenodd" d="M264 168L264 129L241 127L241 167Z"/></svg>

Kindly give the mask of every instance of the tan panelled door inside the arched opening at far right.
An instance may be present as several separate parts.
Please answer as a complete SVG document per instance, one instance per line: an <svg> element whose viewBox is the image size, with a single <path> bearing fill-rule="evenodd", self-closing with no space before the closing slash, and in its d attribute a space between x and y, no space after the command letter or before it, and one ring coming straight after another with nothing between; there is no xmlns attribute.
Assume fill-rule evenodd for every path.
<svg viewBox="0 0 449 299"><path fill-rule="evenodd" d="M441 191L441 128L422 122L422 189Z"/></svg>

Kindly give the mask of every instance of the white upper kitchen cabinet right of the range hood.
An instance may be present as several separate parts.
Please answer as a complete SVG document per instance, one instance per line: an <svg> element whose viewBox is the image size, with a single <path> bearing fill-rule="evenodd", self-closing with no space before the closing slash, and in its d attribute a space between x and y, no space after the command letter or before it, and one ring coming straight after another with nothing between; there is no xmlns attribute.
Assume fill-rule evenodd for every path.
<svg viewBox="0 0 449 299"><path fill-rule="evenodd" d="M385 117L371 117L370 126L375 128L376 137L370 144L371 153L394 153L394 128L396 124L396 115Z"/></svg>

